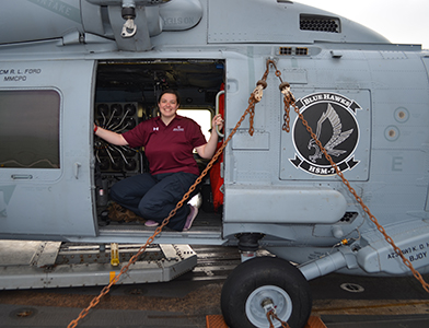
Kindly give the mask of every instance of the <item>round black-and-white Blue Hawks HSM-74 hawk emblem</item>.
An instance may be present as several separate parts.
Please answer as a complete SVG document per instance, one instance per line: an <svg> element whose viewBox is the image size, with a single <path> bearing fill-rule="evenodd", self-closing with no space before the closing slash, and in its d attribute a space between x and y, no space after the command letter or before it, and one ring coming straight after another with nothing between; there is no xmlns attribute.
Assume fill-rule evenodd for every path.
<svg viewBox="0 0 429 328"><path fill-rule="evenodd" d="M359 104L339 94L316 93L297 101L297 106L341 172L359 164L353 157L359 143L359 125L356 120L358 110L362 109ZM335 174L335 168L299 118L293 124L292 136L297 153L289 161L297 168L313 175Z"/></svg>

